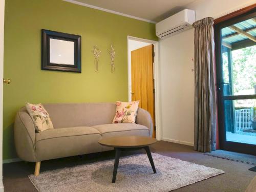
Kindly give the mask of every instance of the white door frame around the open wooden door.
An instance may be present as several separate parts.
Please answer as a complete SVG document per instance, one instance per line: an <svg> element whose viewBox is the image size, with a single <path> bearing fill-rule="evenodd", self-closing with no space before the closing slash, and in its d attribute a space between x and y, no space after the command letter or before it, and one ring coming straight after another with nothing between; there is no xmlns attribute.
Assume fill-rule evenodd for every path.
<svg viewBox="0 0 256 192"><path fill-rule="evenodd" d="M141 41L141 42L147 42L149 44L154 45L154 52L155 52L155 57L154 57L154 88L155 88L155 124L156 124L156 139L157 140L162 140L162 129L161 129L161 121L160 121L160 78L159 78L159 41L155 40L149 40L149 39L143 39L143 38L138 38L138 37L133 37L133 36L127 36L127 67L128 67L128 98L131 95L131 90L129 88L129 85L132 84L132 71L131 71L131 62L129 58L129 40L136 40L136 41ZM153 127L154 129L154 127Z"/></svg>

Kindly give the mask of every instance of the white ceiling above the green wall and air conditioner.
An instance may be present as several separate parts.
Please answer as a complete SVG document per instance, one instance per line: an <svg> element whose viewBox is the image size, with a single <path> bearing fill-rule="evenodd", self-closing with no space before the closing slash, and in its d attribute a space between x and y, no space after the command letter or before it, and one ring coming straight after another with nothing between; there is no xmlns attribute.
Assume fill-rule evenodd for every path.
<svg viewBox="0 0 256 192"><path fill-rule="evenodd" d="M79 2L134 17L159 22L175 14L196 0L64 0ZM82 5L81 4L81 5ZM86 5L87 4L87 5Z"/></svg>

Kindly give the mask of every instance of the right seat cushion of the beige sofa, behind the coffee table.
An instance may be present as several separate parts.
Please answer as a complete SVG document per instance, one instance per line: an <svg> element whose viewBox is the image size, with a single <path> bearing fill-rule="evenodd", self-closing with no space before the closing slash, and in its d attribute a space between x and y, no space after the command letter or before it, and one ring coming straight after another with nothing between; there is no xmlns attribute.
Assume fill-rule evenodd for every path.
<svg viewBox="0 0 256 192"><path fill-rule="evenodd" d="M100 124L93 127L101 133L102 138L130 135L149 136L150 134L150 130L146 126L134 123Z"/></svg>

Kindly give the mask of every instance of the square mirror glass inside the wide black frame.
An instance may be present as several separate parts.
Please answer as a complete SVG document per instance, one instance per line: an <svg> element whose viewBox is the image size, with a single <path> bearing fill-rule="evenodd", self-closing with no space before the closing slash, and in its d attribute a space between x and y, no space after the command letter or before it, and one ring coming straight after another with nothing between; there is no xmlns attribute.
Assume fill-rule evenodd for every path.
<svg viewBox="0 0 256 192"><path fill-rule="evenodd" d="M74 42L50 38L50 63L74 65Z"/></svg>

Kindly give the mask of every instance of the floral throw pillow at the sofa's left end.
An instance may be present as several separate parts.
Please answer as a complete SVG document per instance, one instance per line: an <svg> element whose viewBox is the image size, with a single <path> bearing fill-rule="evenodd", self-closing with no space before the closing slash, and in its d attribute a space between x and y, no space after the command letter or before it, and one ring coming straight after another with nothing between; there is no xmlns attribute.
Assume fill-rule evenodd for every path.
<svg viewBox="0 0 256 192"><path fill-rule="evenodd" d="M42 104L31 104L27 102L26 108L34 122L36 132L53 129L53 124L49 114Z"/></svg>

